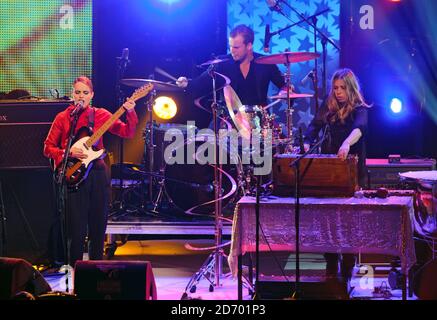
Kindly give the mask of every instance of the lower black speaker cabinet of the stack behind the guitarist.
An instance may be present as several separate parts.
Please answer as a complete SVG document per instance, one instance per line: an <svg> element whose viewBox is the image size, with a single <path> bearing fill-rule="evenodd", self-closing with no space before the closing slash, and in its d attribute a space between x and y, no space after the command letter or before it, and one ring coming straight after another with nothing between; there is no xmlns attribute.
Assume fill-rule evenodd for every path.
<svg viewBox="0 0 437 320"><path fill-rule="evenodd" d="M57 223L50 169L0 169L0 213L5 218L0 221L4 228L4 234L0 228L0 239L5 236L0 252L4 256L31 263L50 262L51 247L60 242L50 240Z"/></svg>

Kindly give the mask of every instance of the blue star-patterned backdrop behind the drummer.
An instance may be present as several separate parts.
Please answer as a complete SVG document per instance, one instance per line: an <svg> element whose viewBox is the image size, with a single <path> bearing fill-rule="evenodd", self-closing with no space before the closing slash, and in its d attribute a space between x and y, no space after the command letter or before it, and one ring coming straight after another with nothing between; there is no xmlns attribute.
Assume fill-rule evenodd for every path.
<svg viewBox="0 0 437 320"><path fill-rule="evenodd" d="M254 49L256 52L263 53L264 30L268 24L270 32L276 32L288 25L298 23L301 18L290 7L294 8L305 17L309 17L319 12L328 9L328 12L318 16L317 27L337 46L340 46L340 1L339 0L284 0L280 1L280 7L284 15L278 12L269 10L265 0L228 0L228 34L229 31L238 24L246 24L255 31ZM287 5L288 4L288 5ZM270 52L267 54L275 54L283 51L314 51L314 35L313 29L306 23L302 22L291 27L278 35L272 37L270 42ZM317 51L322 52L320 38L317 42ZM331 44L327 45L327 79L339 66L340 52ZM321 67L322 59L319 60L319 68ZM301 62L292 64L292 83L297 92L314 93L311 81L301 84L301 80L305 75L314 68L314 62ZM282 72L285 71L283 66L280 66ZM321 80L321 72L319 78ZM321 84L320 84L321 86ZM271 93L273 91L271 90ZM321 94L321 93L320 93ZM294 128L299 126L306 127L311 121L314 114L314 99L301 99L295 102L295 111L293 113ZM286 105L283 103L280 107L274 107L274 112L285 121Z"/></svg>

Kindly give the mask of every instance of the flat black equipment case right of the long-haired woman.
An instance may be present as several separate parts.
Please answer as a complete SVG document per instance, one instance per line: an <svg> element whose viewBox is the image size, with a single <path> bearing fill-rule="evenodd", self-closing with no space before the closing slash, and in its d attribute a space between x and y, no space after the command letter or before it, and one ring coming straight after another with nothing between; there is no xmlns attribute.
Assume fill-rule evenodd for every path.
<svg viewBox="0 0 437 320"><path fill-rule="evenodd" d="M367 188L402 188L399 173L435 170L435 164L434 159L400 159L395 163L388 159L366 159Z"/></svg>

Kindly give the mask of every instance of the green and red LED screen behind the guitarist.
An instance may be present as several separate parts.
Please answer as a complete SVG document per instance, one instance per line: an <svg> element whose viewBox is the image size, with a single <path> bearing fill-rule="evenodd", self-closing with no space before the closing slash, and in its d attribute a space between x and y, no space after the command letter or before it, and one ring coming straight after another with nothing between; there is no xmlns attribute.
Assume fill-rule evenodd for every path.
<svg viewBox="0 0 437 320"><path fill-rule="evenodd" d="M0 92L69 95L92 71L92 0L0 2Z"/></svg>

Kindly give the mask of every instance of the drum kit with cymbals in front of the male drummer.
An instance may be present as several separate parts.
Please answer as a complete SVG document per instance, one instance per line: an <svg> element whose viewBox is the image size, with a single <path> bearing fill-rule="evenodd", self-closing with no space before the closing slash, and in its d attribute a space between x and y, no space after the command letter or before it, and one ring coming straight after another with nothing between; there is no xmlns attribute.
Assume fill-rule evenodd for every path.
<svg viewBox="0 0 437 320"><path fill-rule="evenodd" d="M284 64L287 71L284 74L287 90L279 92L277 95L270 96L272 102L266 106L261 105L243 105L232 88L230 80L219 73L217 75L223 77L226 84L223 87L224 100L227 109L227 115L220 117L224 122L227 122L225 127L235 128L242 139L250 141L253 132L264 134L271 130L273 136L273 147L281 147L281 150L288 150L284 147L291 146L291 115L292 103L295 99L311 98L312 94L296 93L291 91L291 72L290 65L292 63L304 62L313 60L319 57L319 54L311 52L283 52L262 56L255 60L259 64ZM201 67L215 67L229 59L213 59L202 63ZM164 72L165 76L171 78L171 82L157 81L153 79L122 79L120 83L128 87L139 88L145 84L153 84L155 91L178 92L183 89L174 84L176 80L171 75ZM220 89L220 88L219 88ZM155 92L156 95L156 92ZM288 103L287 108L287 135L283 135L283 128L276 123L276 115L271 112L273 107L283 101ZM150 109L150 108L149 108ZM204 108L207 109L207 108ZM151 109L149 110L152 113ZM153 209L151 212L157 214L158 207L164 197L167 198L170 204L181 209L185 213L208 214L214 210L211 203L214 202L214 166L200 164L174 164L169 165L164 161L164 150L169 143L164 141L164 135L168 130L179 130L185 136L186 146L189 143L199 144L200 141L190 141L186 137L186 125L182 124L160 124L158 126L152 124L150 117L149 124L145 130L145 156L144 162L146 168L144 174L149 176L149 194ZM232 124L230 124L232 123ZM196 138L197 139L197 138ZM179 146L184 148L184 145ZM227 151L229 153L229 151ZM232 202L240 195L247 195L253 192L253 168L251 166L243 166L237 161L237 164L226 165L223 168L225 179L221 181L221 193L223 194L224 205ZM138 171L136 172L138 173ZM158 188L156 188L158 186ZM184 190L183 193L180 190ZM237 194L236 194L237 193Z"/></svg>

